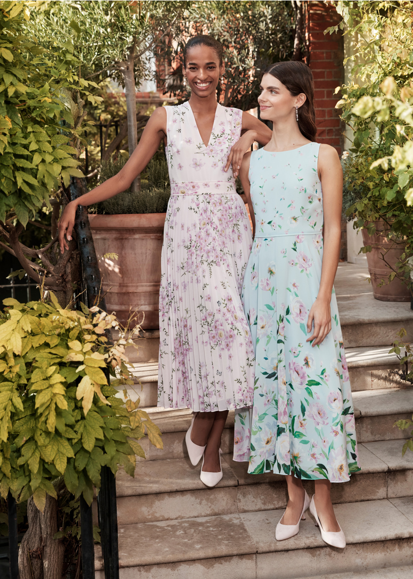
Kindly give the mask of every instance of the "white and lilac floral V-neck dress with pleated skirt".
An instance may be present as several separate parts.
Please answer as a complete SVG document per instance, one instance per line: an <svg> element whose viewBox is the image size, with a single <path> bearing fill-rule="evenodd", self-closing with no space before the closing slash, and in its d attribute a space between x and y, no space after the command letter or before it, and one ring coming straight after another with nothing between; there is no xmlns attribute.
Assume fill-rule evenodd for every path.
<svg viewBox="0 0 413 579"><path fill-rule="evenodd" d="M232 168L224 172L242 111L218 104L205 146L188 102L165 109L171 197L161 255L158 406L250 406L254 350L240 294L252 233Z"/></svg>

